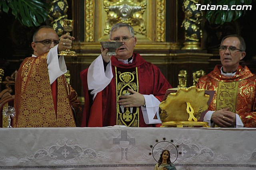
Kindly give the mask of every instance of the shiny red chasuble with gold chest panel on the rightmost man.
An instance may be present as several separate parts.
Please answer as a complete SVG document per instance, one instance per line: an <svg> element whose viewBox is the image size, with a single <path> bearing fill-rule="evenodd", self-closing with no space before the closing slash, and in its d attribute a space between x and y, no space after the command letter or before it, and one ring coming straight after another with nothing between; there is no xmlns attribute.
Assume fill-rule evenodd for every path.
<svg viewBox="0 0 256 170"><path fill-rule="evenodd" d="M229 107L240 116L244 127L256 127L256 75L247 66L239 65L236 74L227 77L221 75L220 68L221 65L215 66L198 80L198 88L216 91L209 110Z"/></svg>

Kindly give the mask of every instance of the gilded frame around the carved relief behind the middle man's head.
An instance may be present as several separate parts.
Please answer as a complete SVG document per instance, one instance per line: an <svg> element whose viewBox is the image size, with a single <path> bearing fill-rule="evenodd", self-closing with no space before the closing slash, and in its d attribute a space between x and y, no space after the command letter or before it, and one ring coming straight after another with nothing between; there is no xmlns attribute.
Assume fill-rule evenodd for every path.
<svg viewBox="0 0 256 170"><path fill-rule="evenodd" d="M115 4L117 2L126 3L145 3L142 20L145 24L145 35L136 34L140 42L165 42L166 32L166 0L85 0L84 1L84 41L93 43L108 40L108 35L104 35L106 20L110 15L104 9L106 4ZM109 5L108 4L108 5ZM143 5L142 5L143 6ZM136 25L134 26L136 27Z"/></svg>

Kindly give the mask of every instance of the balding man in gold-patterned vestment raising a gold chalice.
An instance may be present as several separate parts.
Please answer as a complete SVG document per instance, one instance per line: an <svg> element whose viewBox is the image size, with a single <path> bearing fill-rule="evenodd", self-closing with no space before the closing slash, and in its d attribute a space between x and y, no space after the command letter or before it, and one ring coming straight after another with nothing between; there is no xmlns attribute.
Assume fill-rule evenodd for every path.
<svg viewBox="0 0 256 170"><path fill-rule="evenodd" d="M24 59L16 76L13 127L76 127L82 109L76 91L66 82L64 57L74 37L59 37L50 26L33 35L32 57Z"/></svg>

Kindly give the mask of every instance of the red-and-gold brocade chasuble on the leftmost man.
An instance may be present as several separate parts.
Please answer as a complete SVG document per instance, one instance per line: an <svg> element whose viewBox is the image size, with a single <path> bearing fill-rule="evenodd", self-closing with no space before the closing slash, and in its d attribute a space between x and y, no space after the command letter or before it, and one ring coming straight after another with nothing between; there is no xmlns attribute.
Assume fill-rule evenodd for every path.
<svg viewBox="0 0 256 170"><path fill-rule="evenodd" d="M76 127L64 75L57 79L57 114L46 63L47 53L22 66L18 115L14 127ZM33 64L33 65L31 65Z"/></svg>

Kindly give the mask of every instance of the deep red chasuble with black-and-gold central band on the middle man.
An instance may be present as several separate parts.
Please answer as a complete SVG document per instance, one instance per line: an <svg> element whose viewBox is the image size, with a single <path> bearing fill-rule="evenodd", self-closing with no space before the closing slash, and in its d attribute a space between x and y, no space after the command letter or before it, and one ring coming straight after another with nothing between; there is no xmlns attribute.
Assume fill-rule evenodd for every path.
<svg viewBox="0 0 256 170"><path fill-rule="evenodd" d="M88 92L88 68L80 73L85 101L81 126L105 127L121 123L121 125L131 127L155 127L155 124L147 125L144 122L140 107L124 108L124 114L117 117L117 115L119 116L118 113L122 112L117 110L117 96L124 95L127 92L126 89L131 88L140 94L153 94L158 100L162 101L166 90L172 88L172 86L158 67L146 62L139 54L133 54L132 64L124 64L114 56L111 57L111 63L114 77L110 84L96 95L94 102L92 102ZM132 115L126 115L127 112L132 113ZM126 123L126 120L130 121Z"/></svg>

